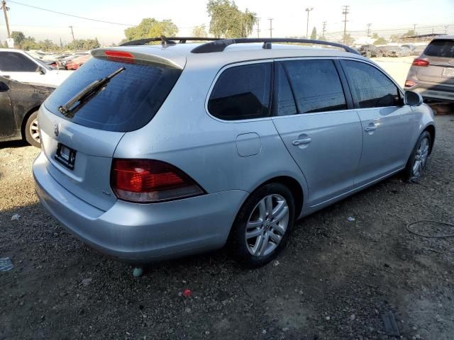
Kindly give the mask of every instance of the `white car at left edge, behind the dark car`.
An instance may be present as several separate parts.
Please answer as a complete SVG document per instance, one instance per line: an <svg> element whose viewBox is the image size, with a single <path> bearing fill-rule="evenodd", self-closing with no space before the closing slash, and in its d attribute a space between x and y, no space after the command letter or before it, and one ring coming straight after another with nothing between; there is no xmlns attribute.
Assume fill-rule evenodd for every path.
<svg viewBox="0 0 454 340"><path fill-rule="evenodd" d="M22 50L0 48L0 76L24 83L58 86L72 72L54 69Z"/></svg>

